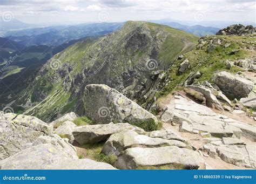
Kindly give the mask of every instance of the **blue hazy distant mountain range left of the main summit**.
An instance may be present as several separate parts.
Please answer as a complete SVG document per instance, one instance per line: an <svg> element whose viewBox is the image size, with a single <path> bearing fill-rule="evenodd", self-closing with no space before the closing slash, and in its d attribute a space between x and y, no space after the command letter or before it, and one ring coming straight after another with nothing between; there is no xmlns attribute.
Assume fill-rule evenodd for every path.
<svg viewBox="0 0 256 184"><path fill-rule="evenodd" d="M57 46L73 39L100 36L113 32L124 23L94 23L71 26L51 26L6 32L4 37L23 45Z"/></svg>

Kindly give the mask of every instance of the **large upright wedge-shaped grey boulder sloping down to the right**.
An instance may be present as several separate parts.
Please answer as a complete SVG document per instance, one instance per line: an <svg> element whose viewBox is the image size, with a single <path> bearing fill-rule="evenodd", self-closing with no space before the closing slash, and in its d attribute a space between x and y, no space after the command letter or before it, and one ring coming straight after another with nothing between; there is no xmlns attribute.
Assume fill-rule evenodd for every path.
<svg viewBox="0 0 256 184"><path fill-rule="evenodd" d="M113 121L129 122L137 126L145 124L150 127L158 123L153 114L106 85L87 85L83 102L85 114L97 124Z"/></svg>

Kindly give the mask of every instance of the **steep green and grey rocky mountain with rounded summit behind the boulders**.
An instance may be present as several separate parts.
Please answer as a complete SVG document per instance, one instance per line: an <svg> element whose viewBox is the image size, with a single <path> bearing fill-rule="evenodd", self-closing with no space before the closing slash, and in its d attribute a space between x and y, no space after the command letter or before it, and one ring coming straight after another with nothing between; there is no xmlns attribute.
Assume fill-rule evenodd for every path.
<svg viewBox="0 0 256 184"><path fill-rule="evenodd" d="M131 99L141 98L160 70L197 40L169 26L127 22L97 41L88 38L56 54L13 105L33 106L26 113L43 120L66 111L83 114L81 97L87 84L106 84Z"/></svg>

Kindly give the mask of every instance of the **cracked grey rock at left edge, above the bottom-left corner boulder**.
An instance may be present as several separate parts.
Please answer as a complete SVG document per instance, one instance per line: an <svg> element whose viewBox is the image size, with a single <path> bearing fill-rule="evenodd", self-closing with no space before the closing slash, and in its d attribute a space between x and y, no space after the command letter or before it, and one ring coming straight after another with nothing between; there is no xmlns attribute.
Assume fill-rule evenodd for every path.
<svg viewBox="0 0 256 184"><path fill-rule="evenodd" d="M41 135L51 135L52 126L36 117L0 114L0 160L21 151L23 147L35 141Z"/></svg>

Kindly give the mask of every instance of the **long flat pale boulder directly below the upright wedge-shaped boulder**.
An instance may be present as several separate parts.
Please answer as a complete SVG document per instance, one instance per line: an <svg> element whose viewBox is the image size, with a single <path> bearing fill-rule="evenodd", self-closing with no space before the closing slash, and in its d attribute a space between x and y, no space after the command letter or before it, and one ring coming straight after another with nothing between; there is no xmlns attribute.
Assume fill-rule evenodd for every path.
<svg viewBox="0 0 256 184"><path fill-rule="evenodd" d="M110 124L104 125L85 125L76 127L73 130L73 137L80 145L83 145L87 143L105 141L110 137L110 135L125 130L133 130L139 134L145 133L142 128L138 128L127 123L114 124L111 122Z"/></svg>

